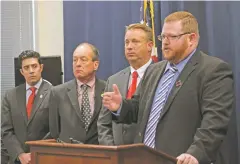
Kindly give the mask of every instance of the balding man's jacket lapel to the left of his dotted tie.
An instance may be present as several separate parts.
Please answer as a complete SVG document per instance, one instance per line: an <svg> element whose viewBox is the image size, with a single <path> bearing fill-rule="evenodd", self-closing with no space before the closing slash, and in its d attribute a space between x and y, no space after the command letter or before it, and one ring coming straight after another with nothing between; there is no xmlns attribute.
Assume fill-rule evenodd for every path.
<svg viewBox="0 0 240 164"><path fill-rule="evenodd" d="M80 113L80 104L78 103L78 93L77 93L77 82L76 80L72 80L71 83L69 83L68 86L68 98L75 109L77 115L79 118L82 119L81 113Z"/></svg>

